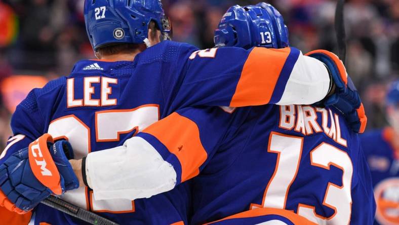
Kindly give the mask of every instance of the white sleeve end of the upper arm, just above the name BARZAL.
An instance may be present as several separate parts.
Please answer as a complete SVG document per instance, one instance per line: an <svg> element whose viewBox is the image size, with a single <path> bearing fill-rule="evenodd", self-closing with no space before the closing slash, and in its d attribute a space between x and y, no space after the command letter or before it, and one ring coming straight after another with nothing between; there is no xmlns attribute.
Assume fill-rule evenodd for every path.
<svg viewBox="0 0 399 225"><path fill-rule="evenodd" d="M326 66L301 53L277 105L313 104L324 99L329 88L330 75Z"/></svg>

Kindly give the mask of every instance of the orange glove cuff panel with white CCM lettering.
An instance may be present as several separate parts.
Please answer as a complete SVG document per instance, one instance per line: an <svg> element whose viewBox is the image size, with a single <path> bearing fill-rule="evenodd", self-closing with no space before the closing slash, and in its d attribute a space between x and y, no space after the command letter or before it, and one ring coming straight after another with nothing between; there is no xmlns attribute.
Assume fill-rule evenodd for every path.
<svg viewBox="0 0 399 225"><path fill-rule="evenodd" d="M29 165L36 179L56 195L61 195L60 174L51 157L48 142L53 143L50 134L45 134L29 144Z"/></svg>

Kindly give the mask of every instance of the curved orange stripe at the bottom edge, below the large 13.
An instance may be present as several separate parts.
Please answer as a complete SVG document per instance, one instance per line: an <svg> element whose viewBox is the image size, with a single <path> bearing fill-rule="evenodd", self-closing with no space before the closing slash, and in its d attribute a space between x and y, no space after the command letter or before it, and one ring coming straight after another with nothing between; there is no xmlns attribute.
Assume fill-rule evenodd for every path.
<svg viewBox="0 0 399 225"><path fill-rule="evenodd" d="M295 225L300 224L309 224L309 225L316 225L316 223L306 219L303 216L300 216L292 211L284 210L284 209L274 209L274 208L256 208L251 209L245 212L241 212L224 219L217 220L215 222L207 223L212 224L216 222L220 222L227 219L236 219L236 218L250 218L250 217L257 217L257 216L264 216L264 215L281 215L286 217L287 219L291 220Z"/></svg>

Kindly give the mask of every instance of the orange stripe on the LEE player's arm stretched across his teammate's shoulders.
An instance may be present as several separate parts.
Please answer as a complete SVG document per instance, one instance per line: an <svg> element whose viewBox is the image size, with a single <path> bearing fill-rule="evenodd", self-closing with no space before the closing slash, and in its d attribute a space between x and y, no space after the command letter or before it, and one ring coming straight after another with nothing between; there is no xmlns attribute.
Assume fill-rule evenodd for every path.
<svg viewBox="0 0 399 225"><path fill-rule="evenodd" d="M267 104L290 52L290 48L254 48L244 64L230 107Z"/></svg>

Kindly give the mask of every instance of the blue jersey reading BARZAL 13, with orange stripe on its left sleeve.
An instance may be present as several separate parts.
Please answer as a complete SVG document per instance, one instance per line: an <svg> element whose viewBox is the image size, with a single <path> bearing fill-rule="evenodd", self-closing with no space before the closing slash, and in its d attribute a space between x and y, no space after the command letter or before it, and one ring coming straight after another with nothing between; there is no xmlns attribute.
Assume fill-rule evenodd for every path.
<svg viewBox="0 0 399 225"><path fill-rule="evenodd" d="M290 210L318 224L374 220L371 176L360 141L335 109L240 108L222 136L215 135L223 132L215 124L223 115L209 122L207 115L195 108L178 110L137 135L176 168L178 182L193 177L192 224L256 208ZM181 127L191 139L179 135Z"/></svg>

